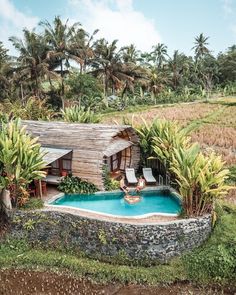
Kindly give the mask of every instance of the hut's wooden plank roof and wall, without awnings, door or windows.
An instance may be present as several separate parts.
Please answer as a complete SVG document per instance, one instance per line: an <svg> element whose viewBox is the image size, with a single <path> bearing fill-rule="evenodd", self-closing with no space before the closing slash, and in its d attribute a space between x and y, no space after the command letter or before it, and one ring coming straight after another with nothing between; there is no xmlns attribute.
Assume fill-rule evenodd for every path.
<svg viewBox="0 0 236 295"><path fill-rule="evenodd" d="M113 137L122 132L127 134L127 140L134 143L131 147L131 167L138 168L139 138L129 126L42 121L23 121L23 124L43 146L73 150L72 173L93 182L100 190L104 189L103 152Z"/></svg>

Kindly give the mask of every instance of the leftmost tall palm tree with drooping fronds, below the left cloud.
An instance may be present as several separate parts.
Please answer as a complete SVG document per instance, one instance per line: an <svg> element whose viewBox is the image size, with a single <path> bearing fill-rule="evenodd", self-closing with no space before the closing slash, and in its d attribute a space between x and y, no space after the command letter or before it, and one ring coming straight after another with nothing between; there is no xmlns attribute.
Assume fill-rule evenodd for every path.
<svg viewBox="0 0 236 295"><path fill-rule="evenodd" d="M14 36L9 38L20 53L17 58L16 77L20 81L21 87L25 81L33 94L40 97L40 78L51 74L47 61L47 45L44 38L34 31L24 29L23 33L23 39Z"/></svg>

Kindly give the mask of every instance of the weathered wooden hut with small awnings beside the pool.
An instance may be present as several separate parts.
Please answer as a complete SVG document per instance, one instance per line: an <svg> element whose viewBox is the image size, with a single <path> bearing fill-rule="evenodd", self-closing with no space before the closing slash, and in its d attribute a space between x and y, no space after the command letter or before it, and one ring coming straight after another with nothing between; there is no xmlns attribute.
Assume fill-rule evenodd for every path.
<svg viewBox="0 0 236 295"><path fill-rule="evenodd" d="M66 170L102 190L104 165L111 176L119 175L126 167L138 168L139 138L130 126L42 121L23 124L47 151L45 161L52 182L53 176Z"/></svg>

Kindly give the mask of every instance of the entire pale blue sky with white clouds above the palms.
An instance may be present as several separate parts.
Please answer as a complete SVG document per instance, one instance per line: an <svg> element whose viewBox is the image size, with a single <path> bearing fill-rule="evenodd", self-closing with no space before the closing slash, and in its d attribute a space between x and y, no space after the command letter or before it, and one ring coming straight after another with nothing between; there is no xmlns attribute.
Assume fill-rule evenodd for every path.
<svg viewBox="0 0 236 295"><path fill-rule="evenodd" d="M0 0L0 41L16 55L10 36L22 38L23 28L57 15L80 22L90 34L99 29L98 38L142 51L164 43L169 55L176 49L193 55L200 33L209 37L215 56L236 44L236 0Z"/></svg>

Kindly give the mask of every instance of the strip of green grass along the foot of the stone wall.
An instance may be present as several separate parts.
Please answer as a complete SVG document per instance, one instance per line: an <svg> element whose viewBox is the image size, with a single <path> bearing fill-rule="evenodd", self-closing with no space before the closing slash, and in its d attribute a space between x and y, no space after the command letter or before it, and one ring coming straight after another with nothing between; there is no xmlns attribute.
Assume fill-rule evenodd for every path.
<svg viewBox="0 0 236 295"><path fill-rule="evenodd" d="M149 268L112 265L57 251L32 249L24 241L13 240L0 246L0 267L60 270L79 277L86 276L102 283L116 281L120 283L157 284L186 279L183 265L179 259L173 260L169 265Z"/></svg>

